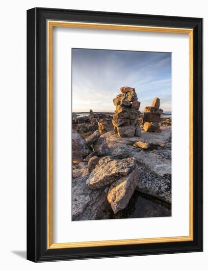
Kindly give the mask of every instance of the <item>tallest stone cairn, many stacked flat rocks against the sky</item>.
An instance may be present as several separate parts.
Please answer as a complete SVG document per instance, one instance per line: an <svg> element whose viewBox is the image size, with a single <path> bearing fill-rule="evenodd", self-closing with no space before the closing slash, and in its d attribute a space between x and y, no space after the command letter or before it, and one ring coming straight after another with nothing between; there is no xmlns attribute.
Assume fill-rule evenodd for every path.
<svg viewBox="0 0 208 270"><path fill-rule="evenodd" d="M113 104L116 106L112 120L114 133L120 137L139 137L141 130L137 118L140 115L140 102L135 88L124 86L120 90L121 94L113 99Z"/></svg>

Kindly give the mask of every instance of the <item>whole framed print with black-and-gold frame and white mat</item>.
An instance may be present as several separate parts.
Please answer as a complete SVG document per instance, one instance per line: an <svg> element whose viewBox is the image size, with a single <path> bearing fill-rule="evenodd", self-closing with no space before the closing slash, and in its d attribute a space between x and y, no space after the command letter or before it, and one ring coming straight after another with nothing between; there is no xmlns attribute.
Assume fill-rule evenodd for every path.
<svg viewBox="0 0 208 270"><path fill-rule="evenodd" d="M203 19L27 10L27 259L203 250Z"/></svg>

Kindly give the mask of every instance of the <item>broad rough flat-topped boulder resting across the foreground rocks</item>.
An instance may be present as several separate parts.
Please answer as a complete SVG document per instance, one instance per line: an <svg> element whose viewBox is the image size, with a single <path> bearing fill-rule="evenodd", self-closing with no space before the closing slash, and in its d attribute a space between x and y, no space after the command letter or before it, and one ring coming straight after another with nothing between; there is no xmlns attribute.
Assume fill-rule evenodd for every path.
<svg viewBox="0 0 208 270"><path fill-rule="evenodd" d="M99 189L110 185L123 176L127 176L136 166L135 158L122 160L106 156L99 160L96 168L90 173L86 181L90 189Z"/></svg>

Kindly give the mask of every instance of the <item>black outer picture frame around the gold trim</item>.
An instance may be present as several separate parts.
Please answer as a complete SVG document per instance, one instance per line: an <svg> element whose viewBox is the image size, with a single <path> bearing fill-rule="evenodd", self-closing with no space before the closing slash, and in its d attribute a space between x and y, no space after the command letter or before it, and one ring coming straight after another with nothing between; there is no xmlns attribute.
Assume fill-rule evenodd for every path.
<svg viewBox="0 0 208 270"><path fill-rule="evenodd" d="M193 29L193 241L48 249L47 20ZM203 19L39 7L27 10L27 259L46 262L196 251L203 251Z"/></svg>

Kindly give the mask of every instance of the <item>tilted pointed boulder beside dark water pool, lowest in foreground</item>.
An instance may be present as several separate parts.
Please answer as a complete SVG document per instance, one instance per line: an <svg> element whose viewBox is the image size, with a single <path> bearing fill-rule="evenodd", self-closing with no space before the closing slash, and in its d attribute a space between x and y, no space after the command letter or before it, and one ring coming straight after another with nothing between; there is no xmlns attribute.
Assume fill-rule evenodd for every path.
<svg viewBox="0 0 208 270"><path fill-rule="evenodd" d="M135 169L127 176L115 181L108 190L107 200L116 214L118 211L126 208L139 180L139 169Z"/></svg>

